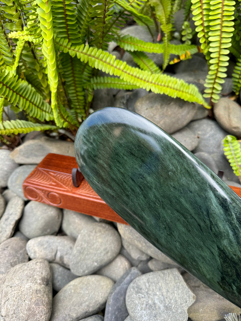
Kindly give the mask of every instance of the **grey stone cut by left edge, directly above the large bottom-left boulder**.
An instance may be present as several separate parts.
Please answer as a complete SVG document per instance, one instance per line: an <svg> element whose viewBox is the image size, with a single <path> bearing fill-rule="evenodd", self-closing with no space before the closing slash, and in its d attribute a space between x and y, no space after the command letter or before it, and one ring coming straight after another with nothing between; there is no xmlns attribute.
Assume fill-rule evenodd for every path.
<svg viewBox="0 0 241 321"><path fill-rule="evenodd" d="M27 242L20 238L10 238L0 244L0 274L7 273L13 266L27 262Z"/></svg>

